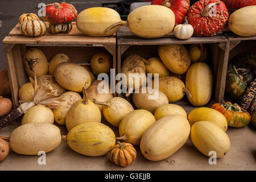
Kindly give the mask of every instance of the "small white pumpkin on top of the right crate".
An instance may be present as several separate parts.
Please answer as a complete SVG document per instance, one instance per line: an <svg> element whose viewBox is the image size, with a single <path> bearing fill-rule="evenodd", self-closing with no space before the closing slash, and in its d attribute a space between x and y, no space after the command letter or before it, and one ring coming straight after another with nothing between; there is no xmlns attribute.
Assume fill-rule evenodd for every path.
<svg viewBox="0 0 256 182"><path fill-rule="evenodd" d="M189 39L193 35L194 29L191 24L178 24L174 28L174 35L177 39Z"/></svg>

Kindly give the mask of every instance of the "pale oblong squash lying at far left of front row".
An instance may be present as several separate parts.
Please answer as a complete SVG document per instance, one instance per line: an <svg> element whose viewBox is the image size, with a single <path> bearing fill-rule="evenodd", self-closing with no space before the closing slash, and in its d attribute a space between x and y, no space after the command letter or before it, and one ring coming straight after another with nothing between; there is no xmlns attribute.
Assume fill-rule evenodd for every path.
<svg viewBox="0 0 256 182"><path fill-rule="evenodd" d="M50 152L61 142L60 129L50 123L27 123L17 127L10 136L11 150L18 154L38 155Z"/></svg>

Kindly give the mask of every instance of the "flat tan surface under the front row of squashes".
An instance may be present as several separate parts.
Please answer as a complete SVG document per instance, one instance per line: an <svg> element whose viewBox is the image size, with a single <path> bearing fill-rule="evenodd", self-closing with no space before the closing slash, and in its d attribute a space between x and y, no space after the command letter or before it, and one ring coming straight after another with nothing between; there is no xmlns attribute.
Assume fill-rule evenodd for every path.
<svg viewBox="0 0 256 182"><path fill-rule="evenodd" d="M15 121L0 131L1 136L9 137L11 131L20 125ZM110 126L106 121L102 123ZM56 124L57 125L57 124ZM64 126L60 126L61 134L67 134ZM110 126L118 137L118 128ZM3 170L256 170L256 129L246 126L240 129L229 127L227 132L231 141L230 151L216 165L209 164L209 158L201 154L191 143L190 138L183 147L169 158L159 162L151 162L144 158L136 146L137 158L128 167L119 167L110 162L109 155L89 157L77 154L68 147L65 140L53 151L46 154L46 165L39 165L40 156L27 156L9 152L9 156L0 162Z"/></svg>

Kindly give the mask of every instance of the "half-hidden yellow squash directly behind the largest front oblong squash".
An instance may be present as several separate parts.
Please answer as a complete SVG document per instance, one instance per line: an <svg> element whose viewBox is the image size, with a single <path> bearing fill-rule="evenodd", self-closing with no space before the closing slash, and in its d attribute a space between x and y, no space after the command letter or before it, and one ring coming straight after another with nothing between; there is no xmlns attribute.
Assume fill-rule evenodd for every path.
<svg viewBox="0 0 256 182"><path fill-rule="evenodd" d="M187 113L183 109L183 107L176 104L164 104L156 108L154 116L157 121L158 119L165 117L166 115L173 115L173 114L179 114L187 118Z"/></svg>

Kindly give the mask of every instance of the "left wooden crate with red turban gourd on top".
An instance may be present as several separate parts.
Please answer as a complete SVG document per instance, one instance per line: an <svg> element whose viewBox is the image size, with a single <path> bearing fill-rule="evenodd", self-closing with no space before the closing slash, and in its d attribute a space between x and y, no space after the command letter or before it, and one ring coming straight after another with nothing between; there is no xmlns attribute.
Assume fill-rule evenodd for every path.
<svg viewBox="0 0 256 182"><path fill-rule="evenodd" d="M89 61L96 52L109 52L113 56L113 69L115 75L116 67L116 39L115 35L105 38L94 38L84 36L76 28L73 22L73 29L68 34L50 34L48 31L44 36L31 38L23 36L19 31L19 24L10 31L9 36L3 39L7 69L11 85L14 108L19 106L18 90L20 86L28 82L23 67L23 54L27 49L34 47L41 49L47 60L56 53L65 53L75 63L89 64ZM115 79L113 78L115 85Z"/></svg>

